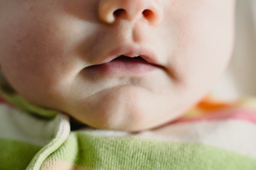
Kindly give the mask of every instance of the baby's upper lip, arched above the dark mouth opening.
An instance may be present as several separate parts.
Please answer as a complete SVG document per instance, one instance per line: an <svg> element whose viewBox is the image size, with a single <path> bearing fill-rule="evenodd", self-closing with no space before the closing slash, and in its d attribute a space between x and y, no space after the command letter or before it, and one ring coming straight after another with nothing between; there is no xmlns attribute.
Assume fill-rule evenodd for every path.
<svg viewBox="0 0 256 170"><path fill-rule="evenodd" d="M92 65L100 65L104 63L108 63L117 57L126 56L126 57L141 57L146 62L154 65L159 65L157 54L152 48L143 45L131 46L131 45L121 45L117 46L110 50L106 55L102 55L97 59L97 63ZM92 66L91 65L91 66Z"/></svg>

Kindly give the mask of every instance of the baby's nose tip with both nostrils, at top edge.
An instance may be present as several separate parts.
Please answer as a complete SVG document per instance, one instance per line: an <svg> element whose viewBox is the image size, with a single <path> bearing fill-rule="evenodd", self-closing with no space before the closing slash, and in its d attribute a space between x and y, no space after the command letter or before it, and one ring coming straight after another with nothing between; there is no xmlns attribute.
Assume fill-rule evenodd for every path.
<svg viewBox="0 0 256 170"><path fill-rule="evenodd" d="M151 25L157 25L162 17L159 0L101 0L99 4L99 18L108 24L119 19L136 21L142 18Z"/></svg>

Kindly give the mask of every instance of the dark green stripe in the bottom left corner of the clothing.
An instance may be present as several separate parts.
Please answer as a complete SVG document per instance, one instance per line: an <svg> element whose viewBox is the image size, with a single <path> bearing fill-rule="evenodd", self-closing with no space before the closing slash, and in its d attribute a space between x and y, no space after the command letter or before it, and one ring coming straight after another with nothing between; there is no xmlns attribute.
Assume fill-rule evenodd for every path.
<svg viewBox="0 0 256 170"><path fill-rule="evenodd" d="M25 170L40 146L0 138L0 170Z"/></svg>

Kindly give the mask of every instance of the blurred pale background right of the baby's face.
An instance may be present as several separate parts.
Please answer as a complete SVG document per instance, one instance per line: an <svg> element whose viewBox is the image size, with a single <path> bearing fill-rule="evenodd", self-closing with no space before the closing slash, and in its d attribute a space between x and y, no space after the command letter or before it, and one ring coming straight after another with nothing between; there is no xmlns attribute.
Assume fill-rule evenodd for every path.
<svg viewBox="0 0 256 170"><path fill-rule="evenodd" d="M222 100L256 96L256 0L236 1L234 54L211 92Z"/></svg>

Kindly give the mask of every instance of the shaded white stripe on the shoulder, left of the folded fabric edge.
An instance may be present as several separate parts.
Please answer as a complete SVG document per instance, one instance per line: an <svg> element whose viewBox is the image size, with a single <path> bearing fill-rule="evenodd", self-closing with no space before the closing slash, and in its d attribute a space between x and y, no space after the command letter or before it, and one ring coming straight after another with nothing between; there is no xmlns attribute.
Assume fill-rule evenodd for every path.
<svg viewBox="0 0 256 170"><path fill-rule="evenodd" d="M41 120L23 113L6 104L0 104L0 137L38 146L44 146L58 135L60 124L67 124L68 119L58 115L53 120Z"/></svg>

